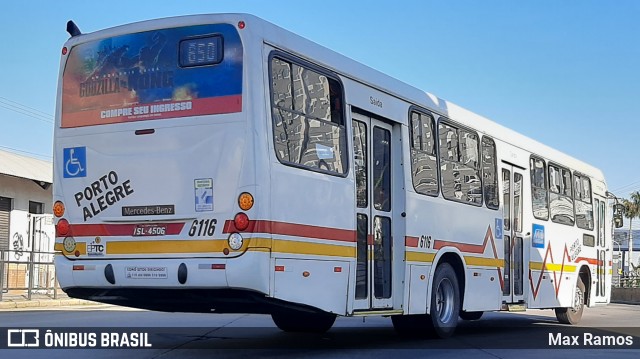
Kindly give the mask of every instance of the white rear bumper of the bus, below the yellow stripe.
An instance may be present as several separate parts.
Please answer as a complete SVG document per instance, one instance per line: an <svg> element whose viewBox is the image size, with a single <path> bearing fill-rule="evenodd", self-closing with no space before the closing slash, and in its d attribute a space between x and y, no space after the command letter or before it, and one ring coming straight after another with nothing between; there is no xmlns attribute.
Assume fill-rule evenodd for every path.
<svg viewBox="0 0 640 359"><path fill-rule="evenodd" d="M60 255L55 265L61 288L74 298L161 311L261 312L246 305L268 296L269 260L266 252L229 259L69 260Z"/></svg>

